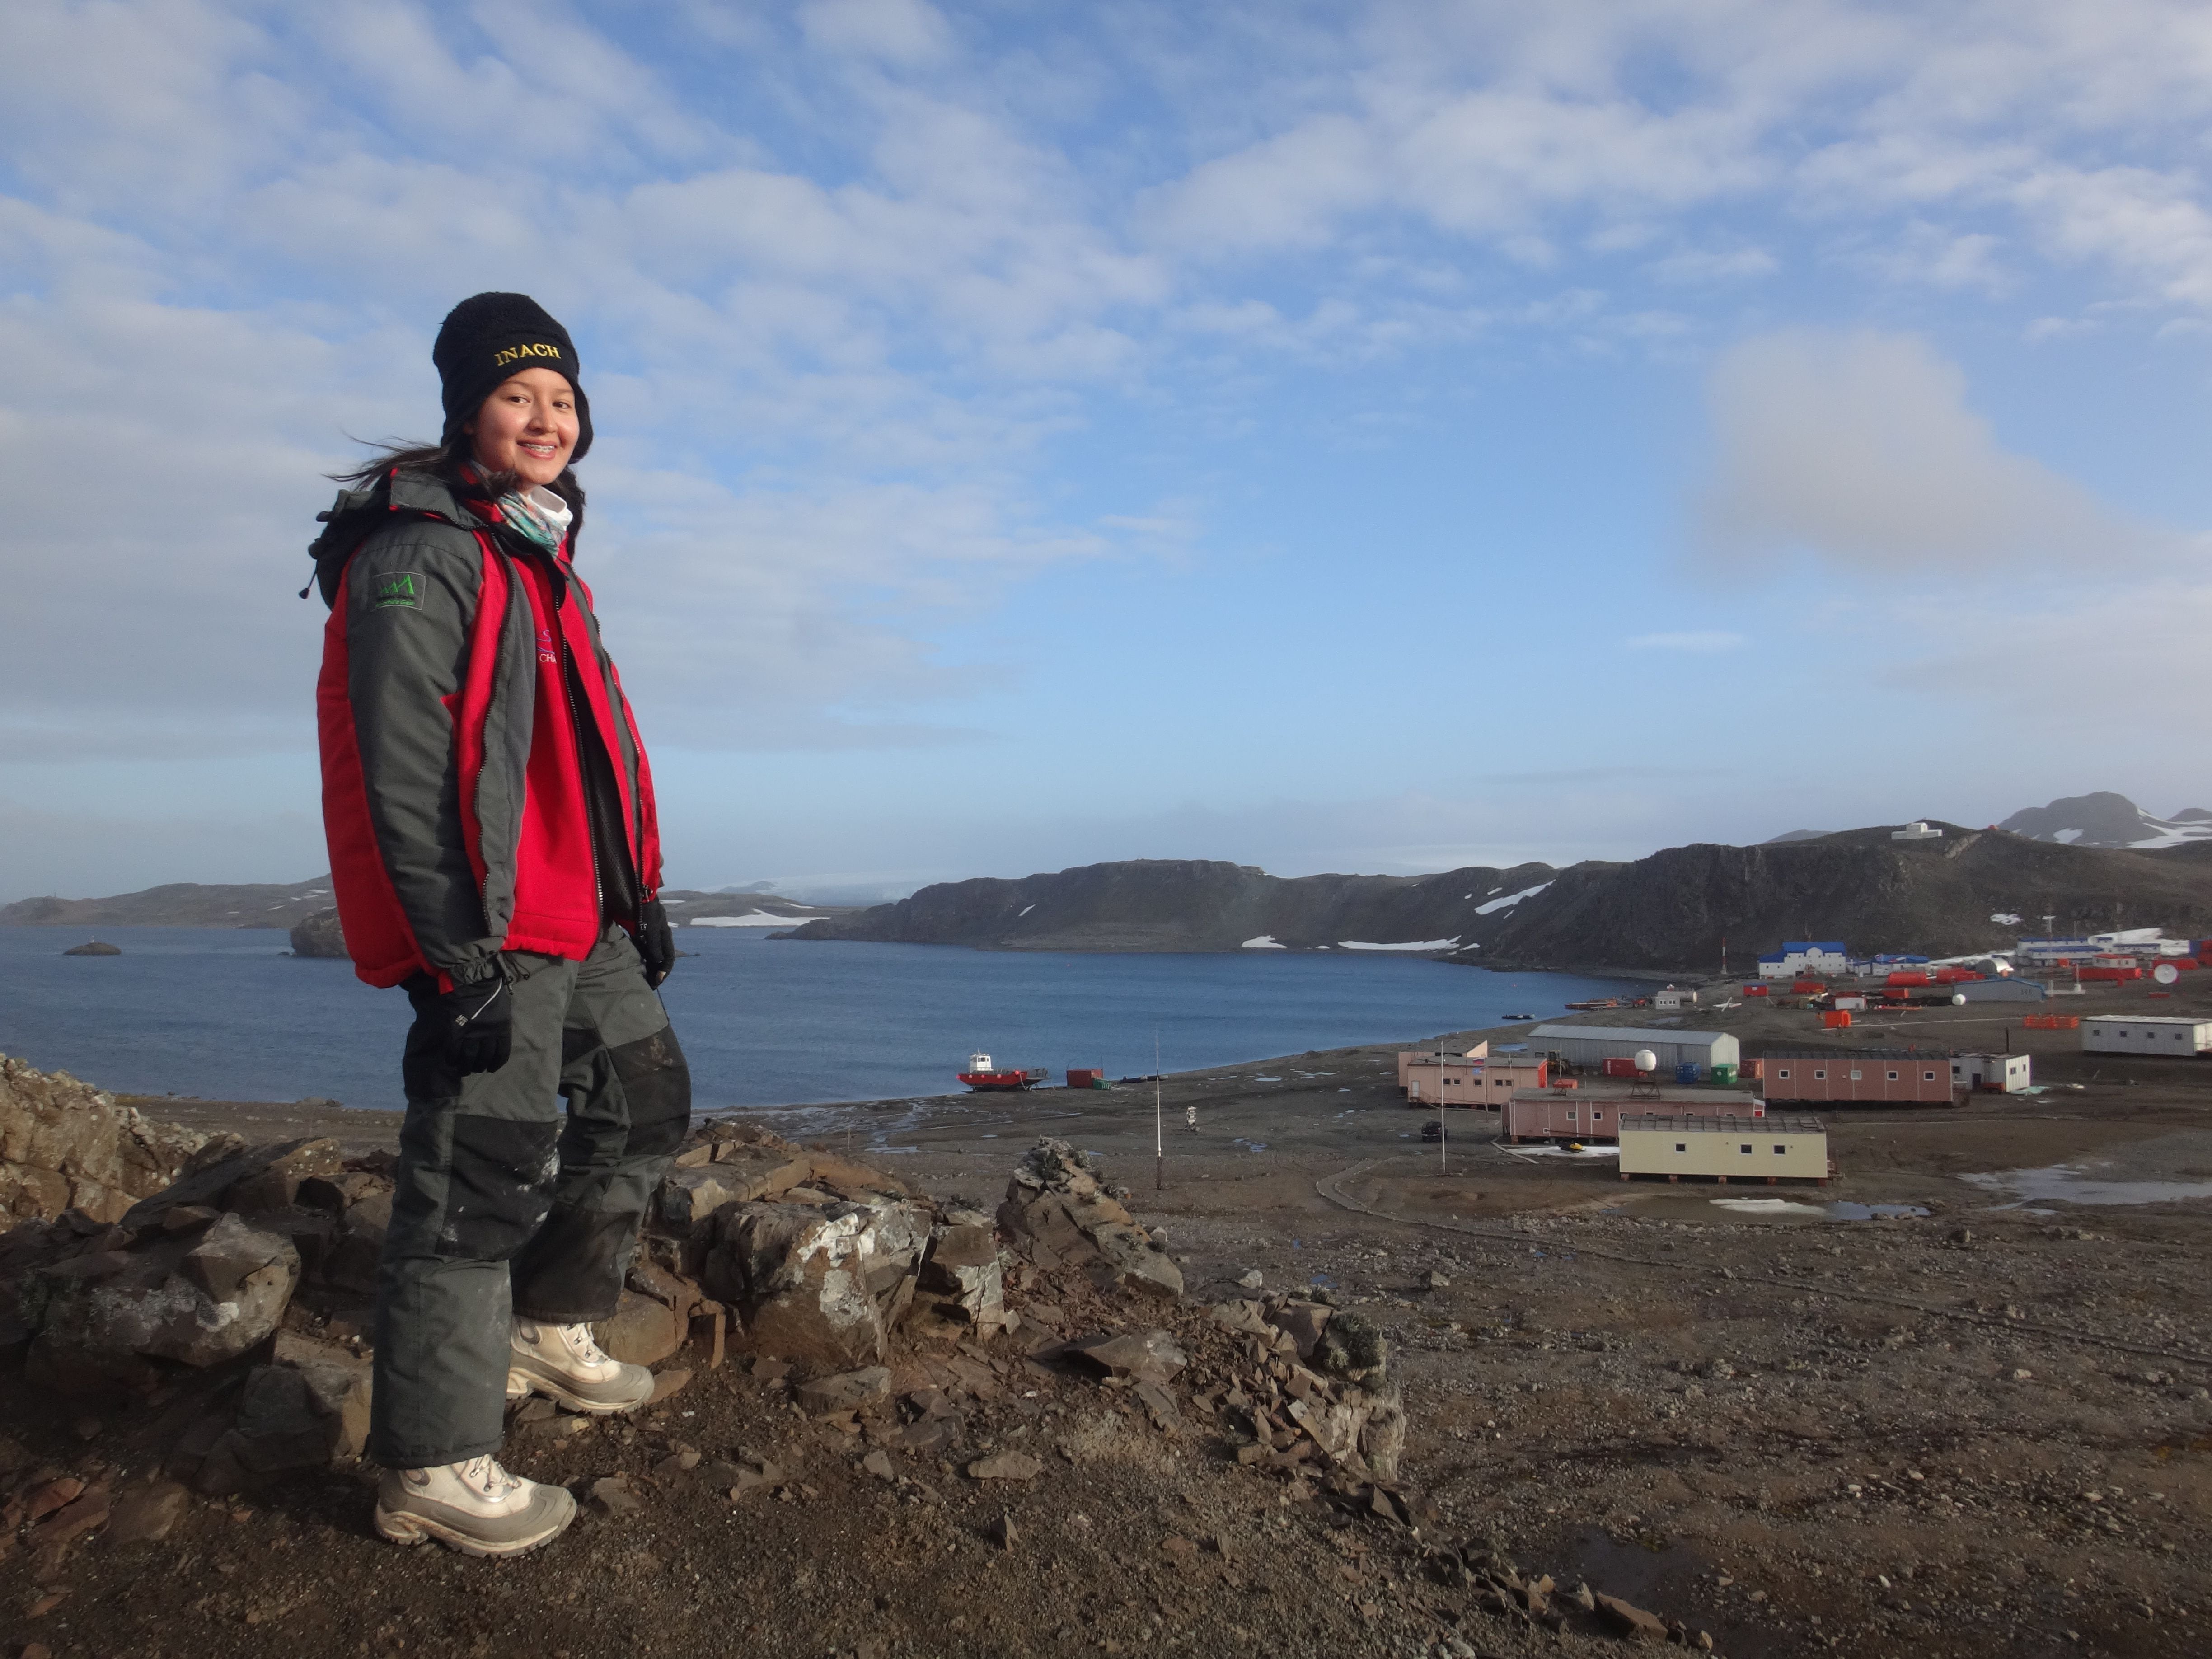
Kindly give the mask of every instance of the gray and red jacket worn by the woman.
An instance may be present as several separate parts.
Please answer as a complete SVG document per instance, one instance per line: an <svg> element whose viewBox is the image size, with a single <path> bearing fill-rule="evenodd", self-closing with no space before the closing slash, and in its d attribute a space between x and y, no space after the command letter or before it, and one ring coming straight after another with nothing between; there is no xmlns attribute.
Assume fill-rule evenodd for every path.
<svg viewBox="0 0 2212 1659"><path fill-rule="evenodd" d="M661 883L653 770L591 591L489 500L396 471L312 549L338 922L369 984L582 960Z"/></svg>

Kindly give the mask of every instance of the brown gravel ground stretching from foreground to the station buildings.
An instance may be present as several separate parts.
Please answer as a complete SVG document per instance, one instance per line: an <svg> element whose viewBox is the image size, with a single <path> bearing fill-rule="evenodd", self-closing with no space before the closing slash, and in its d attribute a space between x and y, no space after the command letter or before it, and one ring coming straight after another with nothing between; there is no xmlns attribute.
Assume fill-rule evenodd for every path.
<svg viewBox="0 0 2212 1659"><path fill-rule="evenodd" d="M995 1389L947 1455L898 1453L885 1482L860 1467L865 1431L805 1422L732 1363L635 1425L518 1431L524 1473L580 1491L626 1473L641 1500L540 1555L394 1551L369 1537L358 1480L299 1480L195 1504L164 1542L95 1540L64 1564L18 1551L0 1562L0 1637L55 1655L524 1644L555 1659L1621 1648L1573 1606L1564 1632L1486 1613L1458 1562L1495 1551L1743 1659L2205 1652L2208 1201L2020 1203L2024 1177L2002 1177L2212 1181L2212 1062L2088 1062L2062 1053L2070 1033L2026 1035L2053 1044L2044 1077L2084 1088L1823 1113L1840 1181L1759 1188L1805 1206L1767 1214L1725 1210L1714 1188L1624 1186L1601 1159L1513 1155L1462 1130L1471 1113L1440 1159L1385 1048L1168 1079L1161 1188L1148 1084L975 1102L920 1135L872 1130L905 1121L902 1102L852 1108L858 1155L874 1146L942 1197L995 1201L1040 1133L1102 1152L1130 1208L1168 1228L1194 1305L1161 1318L1055 1285L1009 1301L1057 1298L1086 1329L1168 1323L1194 1354L1186 1394L1239 1363L1203 1305L1241 1294L1248 1270L1267 1287L1318 1276L1380 1321L1411 1418L1405 1486L1429 1506L1411 1528L1325 1491L1292 1502L1203 1413L1166 1433L1018 1354L995 1354ZM1924 1214L1812 1212L1832 1201ZM922 1365L907 1356L900 1385L929 1380ZM27 1464L128 1486L159 1455L150 1422L80 1425L84 1402L31 1396L13 1371L0 1402ZM1044 1460L1035 1480L964 1473L1022 1447ZM701 1473L748 1458L781 1484L732 1502ZM1002 1517L1013 1548L991 1537Z"/></svg>

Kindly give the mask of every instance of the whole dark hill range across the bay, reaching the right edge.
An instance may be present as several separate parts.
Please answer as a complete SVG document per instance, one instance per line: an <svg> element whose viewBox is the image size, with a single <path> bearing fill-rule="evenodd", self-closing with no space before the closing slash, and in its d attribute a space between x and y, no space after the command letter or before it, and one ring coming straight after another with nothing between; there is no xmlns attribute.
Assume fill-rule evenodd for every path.
<svg viewBox="0 0 2212 1659"><path fill-rule="evenodd" d="M940 883L776 938L1013 951L1230 951L1431 945L1498 967L1717 971L1785 938L1960 956L2062 931L2212 936L2205 843L2106 849L1944 825L1889 825L1763 847L1668 847L1628 865L1281 878L1250 865L1128 860L1022 880ZM2006 918L2006 920L1997 920Z"/></svg>

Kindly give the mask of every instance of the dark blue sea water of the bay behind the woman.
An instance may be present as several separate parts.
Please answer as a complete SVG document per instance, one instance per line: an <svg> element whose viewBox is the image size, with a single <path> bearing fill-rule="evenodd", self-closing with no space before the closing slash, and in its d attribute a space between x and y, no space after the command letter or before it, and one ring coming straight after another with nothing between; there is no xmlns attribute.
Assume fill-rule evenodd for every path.
<svg viewBox="0 0 2212 1659"><path fill-rule="evenodd" d="M290 956L285 933L111 927L122 956L62 956L80 936L0 927L0 1053L102 1088L345 1106L400 1099L407 998L352 962ZM1000 1066L1148 1075L1307 1048L1493 1026L1617 995L1613 980L1491 973L1383 953L1097 956L945 945L796 942L677 929L664 987L701 1108L960 1093L982 1048Z"/></svg>

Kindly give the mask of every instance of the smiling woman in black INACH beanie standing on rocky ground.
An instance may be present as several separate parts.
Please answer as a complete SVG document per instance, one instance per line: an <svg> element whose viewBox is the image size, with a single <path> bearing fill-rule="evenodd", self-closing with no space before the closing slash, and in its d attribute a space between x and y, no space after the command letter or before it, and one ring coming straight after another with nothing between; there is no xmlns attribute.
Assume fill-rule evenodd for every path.
<svg viewBox="0 0 2212 1659"><path fill-rule="evenodd" d="M653 772L571 566L575 343L529 296L478 294L431 358L440 440L349 473L310 549L332 608L323 827L356 973L416 1015L376 1283L376 1531L515 1555L575 1500L500 1469L507 1400L653 1391L588 1327L690 1126L690 1068L657 995Z"/></svg>

